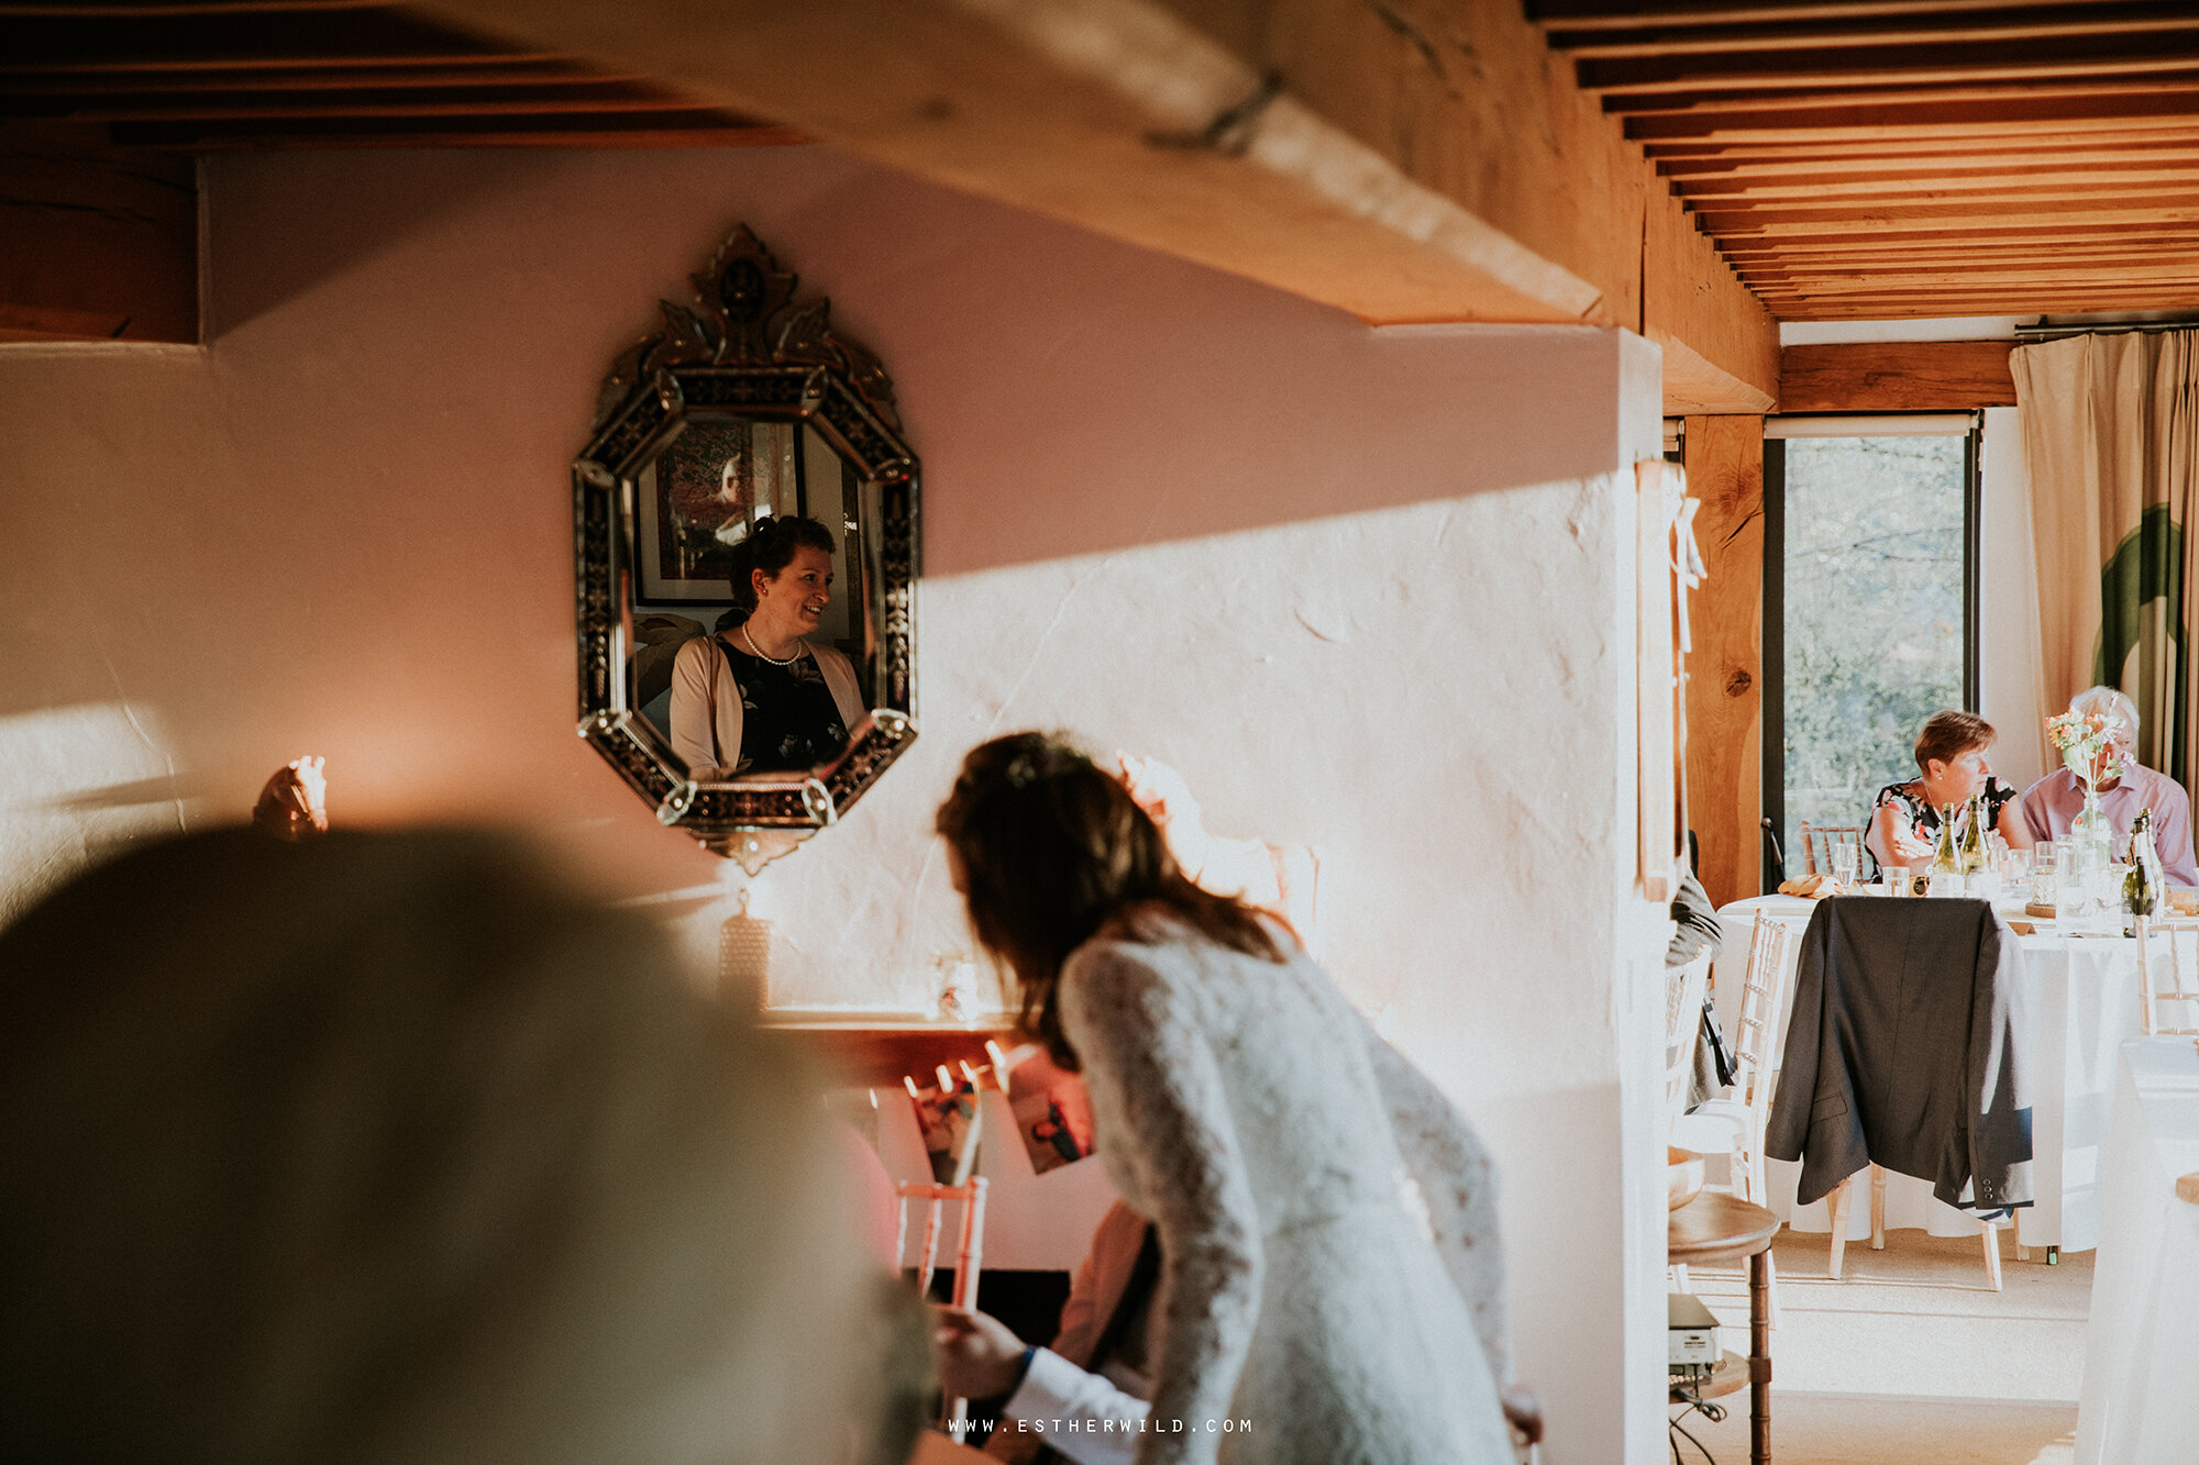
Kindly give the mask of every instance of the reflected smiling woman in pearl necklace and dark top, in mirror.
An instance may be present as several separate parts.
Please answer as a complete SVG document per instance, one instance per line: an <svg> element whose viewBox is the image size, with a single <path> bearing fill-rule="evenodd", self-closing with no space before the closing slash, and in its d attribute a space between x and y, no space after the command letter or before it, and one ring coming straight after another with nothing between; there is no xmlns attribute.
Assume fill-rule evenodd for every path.
<svg viewBox="0 0 2199 1465"><path fill-rule="evenodd" d="M855 667L809 640L831 603L833 537L816 519L756 519L732 550L737 623L673 660L673 752L697 783L807 772L862 722Z"/></svg>

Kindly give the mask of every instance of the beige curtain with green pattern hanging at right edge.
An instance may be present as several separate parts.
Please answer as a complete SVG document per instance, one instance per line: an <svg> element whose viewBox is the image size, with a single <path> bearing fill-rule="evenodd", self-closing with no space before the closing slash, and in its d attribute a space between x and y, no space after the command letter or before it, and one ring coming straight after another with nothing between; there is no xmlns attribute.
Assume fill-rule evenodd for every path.
<svg viewBox="0 0 2199 1465"><path fill-rule="evenodd" d="M2087 334L2010 354L2038 557L2038 702L2137 702L2137 757L2192 787L2199 332Z"/></svg>

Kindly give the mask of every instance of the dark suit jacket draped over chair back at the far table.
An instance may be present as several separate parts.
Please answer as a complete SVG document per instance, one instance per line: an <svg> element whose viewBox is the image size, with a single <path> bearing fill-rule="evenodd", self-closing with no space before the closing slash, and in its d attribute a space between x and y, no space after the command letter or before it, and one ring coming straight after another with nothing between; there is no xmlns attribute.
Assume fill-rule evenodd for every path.
<svg viewBox="0 0 2199 1465"><path fill-rule="evenodd" d="M2016 961L1983 900L1816 906L1764 1142L1772 1159L1801 1159L1799 1203L1867 1164L1931 1181L1948 1205L2032 1203L2032 1102L2010 1023Z"/></svg>

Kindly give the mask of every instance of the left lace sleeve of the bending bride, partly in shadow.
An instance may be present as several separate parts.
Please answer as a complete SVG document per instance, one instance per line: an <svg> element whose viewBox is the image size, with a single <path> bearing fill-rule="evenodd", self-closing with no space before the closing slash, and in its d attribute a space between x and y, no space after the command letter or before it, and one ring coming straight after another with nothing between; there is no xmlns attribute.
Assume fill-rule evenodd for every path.
<svg viewBox="0 0 2199 1465"><path fill-rule="evenodd" d="M1205 1034L1124 946L1062 970L1062 1029L1084 1060L1100 1146L1161 1232L1154 1428L1139 1465L1209 1461L1260 1315L1260 1216ZM1183 1421L1181 1432L1172 1421Z"/></svg>

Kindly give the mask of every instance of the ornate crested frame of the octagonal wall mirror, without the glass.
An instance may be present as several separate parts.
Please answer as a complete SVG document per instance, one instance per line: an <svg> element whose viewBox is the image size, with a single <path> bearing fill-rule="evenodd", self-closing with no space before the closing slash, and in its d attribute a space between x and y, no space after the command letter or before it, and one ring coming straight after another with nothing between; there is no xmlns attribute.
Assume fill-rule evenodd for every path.
<svg viewBox="0 0 2199 1465"><path fill-rule="evenodd" d="M831 301L796 301L745 224L693 275L697 306L660 301L664 330L611 365L594 438L572 464L578 563L581 737L658 814L750 871L829 827L917 737L917 458L877 356L831 328ZM697 418L811 429L860 480L860 598L871 715L807 772L695 783L633 702L640 482Z"/></svg>

